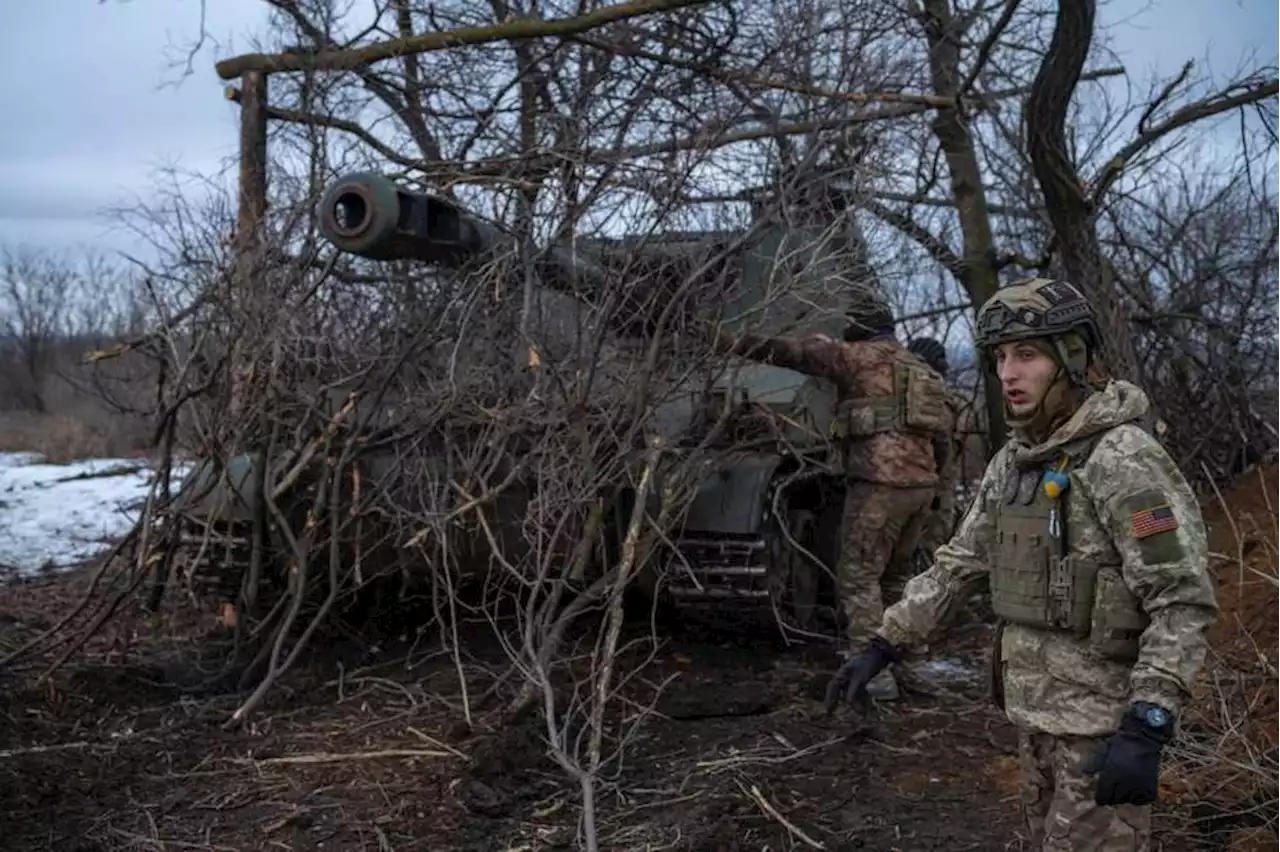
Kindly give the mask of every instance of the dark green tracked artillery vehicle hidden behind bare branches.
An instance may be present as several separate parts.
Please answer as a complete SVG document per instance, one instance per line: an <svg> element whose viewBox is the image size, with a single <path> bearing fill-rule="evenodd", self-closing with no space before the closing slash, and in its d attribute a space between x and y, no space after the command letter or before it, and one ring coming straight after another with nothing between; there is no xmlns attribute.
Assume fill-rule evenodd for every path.
<svg viewBox="0 0 1280 852"><path fill-rule="evenodd" d="M513 244L509 234L454 201L412 192L376 173L347 175L332 184L321 200L320 226L339 251L442 270L460 270ZM553 303L589 301L608 280L613 258L637 253L641 260L700 258L709 248L741 241L742 234L682 232L643 242L623 237L548 247L538 270L539 296ZM756 334L838 338L845 311L842 288L833 283L865 275L865 256L856 223L840 209L809 220L788 216L785 224L756 223L750 238L726 260L735 265L736 285L722 316L740 319L723 320L723 325L731 331L750 326ZM771 294L768 285L778 274L790 279L781 297ZM613 333L643 336L644 329L620 326ZM781 617L791 628L818 629L836 611L832 577L844 500L844 480L827 439L835 388L772 365L726 361L735 362L732 370L690 375L655 412L667 445L678 454L678 448L696 441L708 412L718 411L726 398L733 403L718 461L705 471L675 548L663 549L645 567L640 588L669 606L751 608ZM260 458L246 454L223 467L210 461L184 485L188 528L201 536L215 531L220 541L216 550L209 550L211 555L191 562L224 595L238 587L236 578L251 550L247 530L260 510L253 498ZM375 453L361 464L378 468L387 462ZM598 549L602 564L617 551L632 498L626 489L617 493L605 541ZM306 499L298 498L292 510L302 512ZM518 499L509 510L518 517ZM193 553L195 537L187 546Z"/></svg>

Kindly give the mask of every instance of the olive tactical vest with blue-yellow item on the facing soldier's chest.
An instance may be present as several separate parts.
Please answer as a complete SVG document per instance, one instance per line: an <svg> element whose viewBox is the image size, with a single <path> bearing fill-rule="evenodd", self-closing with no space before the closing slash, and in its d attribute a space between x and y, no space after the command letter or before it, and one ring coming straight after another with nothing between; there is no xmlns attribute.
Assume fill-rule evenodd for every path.
<svg viewBox="0 0 1280 852"><path fill-rule="evenodd" d="M1124 582L1120 555L1111 549L1103 562L1089 560L1073 551L1068 531L1073 461L1083 464L1096 444L1068 448L1052 467L1068 477L1056 498L1044 489L1050 471L1010 471L995 510L992 609L1011 624L1088 637L1098 656L1133 663L1149 619Z"/></svg>

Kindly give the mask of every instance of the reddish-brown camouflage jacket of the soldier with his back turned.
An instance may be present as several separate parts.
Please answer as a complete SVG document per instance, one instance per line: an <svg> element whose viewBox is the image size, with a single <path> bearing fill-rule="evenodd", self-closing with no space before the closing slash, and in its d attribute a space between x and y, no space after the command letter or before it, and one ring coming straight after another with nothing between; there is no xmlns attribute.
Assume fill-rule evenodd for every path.
<svg viewBox="0 0 1280 852"><path fill-rule="evenodd" d="M773 363L836 385L837 400L888 395L893 390L892 363L915 356L897 340L838 343L818 338L737 336L722 349ZM899 487L933 487L938 484L933 444L925 436L881 432L844 446L850 478Z"/></svg>

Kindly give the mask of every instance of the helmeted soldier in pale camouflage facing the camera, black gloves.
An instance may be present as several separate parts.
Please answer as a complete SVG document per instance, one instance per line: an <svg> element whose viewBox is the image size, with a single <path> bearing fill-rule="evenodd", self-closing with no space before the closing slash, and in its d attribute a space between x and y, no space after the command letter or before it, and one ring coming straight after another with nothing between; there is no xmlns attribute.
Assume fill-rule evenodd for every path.
<svg viewBox="0 0 1280 852"><path fill-rule="evenodd" d="M979 311L1012 434L933 567L837 673L828 713L940 626L975 577L1000 617L993 697L1019 730L1033 848L1147 849L1161 750L1217 618L1204 523L1147 395L1105 380L1093 307L1029 279Z"/></svg>

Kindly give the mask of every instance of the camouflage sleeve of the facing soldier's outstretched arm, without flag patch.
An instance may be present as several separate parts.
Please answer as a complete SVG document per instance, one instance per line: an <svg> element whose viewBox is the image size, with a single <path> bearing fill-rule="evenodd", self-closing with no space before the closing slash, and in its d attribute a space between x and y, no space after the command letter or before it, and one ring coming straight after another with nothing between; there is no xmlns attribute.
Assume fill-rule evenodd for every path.
<svg viewBox="0 0 1280 852"><path fill-rule="evenodd" d="M969 585L991 569L989 548L995 519L989 507L1004 481L1007 444L996 453L982 476L978 494L955 535L933 555L933 567L906 583L902 599L884 610L877 631L893 647L909 649L928 640L945 624L969 594Z"/></svg>

